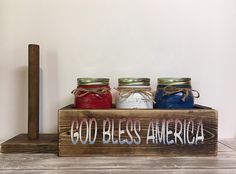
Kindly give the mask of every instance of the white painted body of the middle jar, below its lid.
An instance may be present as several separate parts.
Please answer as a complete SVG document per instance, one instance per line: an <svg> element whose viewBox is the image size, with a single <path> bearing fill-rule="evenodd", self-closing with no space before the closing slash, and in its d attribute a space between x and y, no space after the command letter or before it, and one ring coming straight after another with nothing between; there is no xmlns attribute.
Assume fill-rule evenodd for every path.
<svg viewBox="0 0 236 174"><path fill-rule="evenodd" d="M122 89L145 89L150 88L149 86L119 86L118 92L116 93L116 108L124 109L152 109L153 101L151 101L148 96L140 92L135 92L127 95L122 95Z"/></svg>

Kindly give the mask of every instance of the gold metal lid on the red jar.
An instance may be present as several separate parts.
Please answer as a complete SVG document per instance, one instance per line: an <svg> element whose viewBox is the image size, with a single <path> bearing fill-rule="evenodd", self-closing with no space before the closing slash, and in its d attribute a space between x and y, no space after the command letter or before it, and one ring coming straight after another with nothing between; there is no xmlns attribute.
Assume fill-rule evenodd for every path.
<svg viewBox="0 0 236 174"><path fill-rule="evenodd" d="M109 85L108 78L78 78L79 85Z"/></svg>

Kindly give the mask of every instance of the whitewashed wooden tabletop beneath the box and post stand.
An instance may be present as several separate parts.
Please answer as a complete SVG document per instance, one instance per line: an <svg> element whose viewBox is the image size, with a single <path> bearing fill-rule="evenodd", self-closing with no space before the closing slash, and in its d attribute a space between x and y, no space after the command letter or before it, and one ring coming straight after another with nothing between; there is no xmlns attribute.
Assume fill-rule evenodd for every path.
<svg viewBox="0 0 236 174"><path fill-rule="evenodd" d="M236 139L218 143L217 157L58 157L1 154L0 173L236 173Z"/></svg>

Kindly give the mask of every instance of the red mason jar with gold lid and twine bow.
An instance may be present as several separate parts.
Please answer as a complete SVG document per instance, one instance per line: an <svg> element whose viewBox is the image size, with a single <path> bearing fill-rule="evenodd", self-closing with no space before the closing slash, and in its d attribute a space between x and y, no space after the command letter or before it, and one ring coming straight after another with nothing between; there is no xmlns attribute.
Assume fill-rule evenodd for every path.
<svg viewBox="0 0 236 174"><path fill-rule="evenodd" d="M80 109L109 109L112 107L112 95L107 78L78 78L75 95L75 107Z"/></svg>

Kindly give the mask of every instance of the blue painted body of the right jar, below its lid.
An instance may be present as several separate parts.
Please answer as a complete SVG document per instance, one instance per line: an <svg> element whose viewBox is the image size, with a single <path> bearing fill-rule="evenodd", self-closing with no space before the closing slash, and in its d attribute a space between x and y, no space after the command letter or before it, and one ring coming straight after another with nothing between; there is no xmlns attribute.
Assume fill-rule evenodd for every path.
<svg viewBox="0 0 236 174"><path fill-rule="evenodd" d="M191 109L194 97L191 85L172 85L176 92L167 93L166 85L158 85L155 95L155 108L158 109Z"/></svg>

